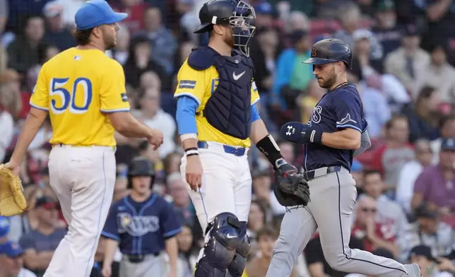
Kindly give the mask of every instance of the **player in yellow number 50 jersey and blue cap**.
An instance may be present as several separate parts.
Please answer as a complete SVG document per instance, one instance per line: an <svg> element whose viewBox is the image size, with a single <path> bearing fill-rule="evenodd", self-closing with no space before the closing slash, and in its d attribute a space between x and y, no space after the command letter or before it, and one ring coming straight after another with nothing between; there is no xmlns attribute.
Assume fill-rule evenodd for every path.
<svg viewBox="0 0 455 277"><path fill-rule="evenodd" d="M78 47L42 66L30 114L5 167L19 171L30 142L49 113L53 148L50 185L69 232L55 250L45 277L87 277L112 201L115 182L114 131L148 139L158 148L162 133L129 113L122 66L105 55L116 45L118 22L104 0L87 1L75 16Z"/></svg>

